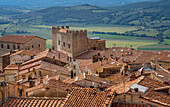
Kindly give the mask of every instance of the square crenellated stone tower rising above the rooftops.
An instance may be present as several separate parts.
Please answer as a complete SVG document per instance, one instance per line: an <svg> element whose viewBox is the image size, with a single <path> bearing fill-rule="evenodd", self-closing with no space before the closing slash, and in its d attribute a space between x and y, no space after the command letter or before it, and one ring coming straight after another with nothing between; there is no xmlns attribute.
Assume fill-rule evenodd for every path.
<svg viewBox="0 0 170 107"><path fill-rule="evenodd" d="M75 57L87 51L87 30L73 31L69 26L52 27L52 48Z"/></svg>

